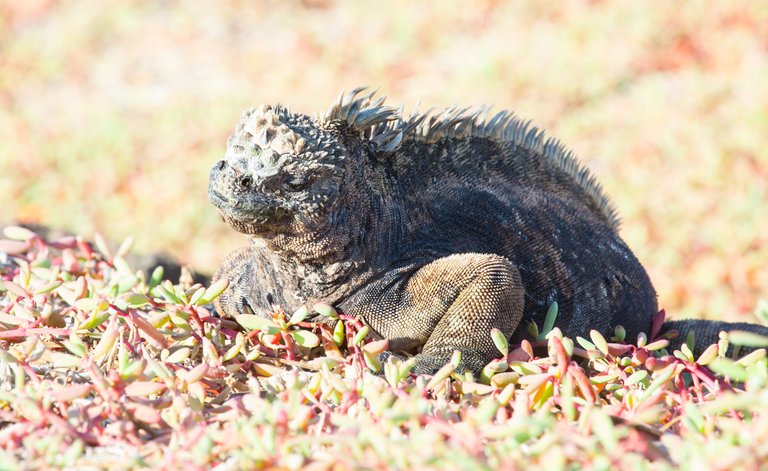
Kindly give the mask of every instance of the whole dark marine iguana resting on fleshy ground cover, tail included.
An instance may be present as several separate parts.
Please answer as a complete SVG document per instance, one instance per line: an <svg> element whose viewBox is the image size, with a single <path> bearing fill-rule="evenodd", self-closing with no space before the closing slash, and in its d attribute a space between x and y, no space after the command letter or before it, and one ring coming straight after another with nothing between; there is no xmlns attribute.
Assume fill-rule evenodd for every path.
<svg viewBox="0 0 768 471"><path fill-rule="evenodd" d="M214 276L230 280L220 313L330 302L420 349L427 373L454 350L479 371L498 356L491 328L519 340L553 301L569 336L650 330L651 282L571 152L507 112L404 118L361 91L319 118L243 115L208 190L250 241ZM676 327L716 341L701 325Z"/></svg>

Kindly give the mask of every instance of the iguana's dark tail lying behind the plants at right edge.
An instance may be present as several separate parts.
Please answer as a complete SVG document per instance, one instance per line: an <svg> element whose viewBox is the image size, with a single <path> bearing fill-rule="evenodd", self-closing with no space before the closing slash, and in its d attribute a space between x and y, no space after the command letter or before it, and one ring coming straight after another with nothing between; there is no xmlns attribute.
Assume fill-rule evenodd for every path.
<svg viewBox="0 0 768 471"><path fill-rule="evenodd" d="M694 356L700 355L707 347L717 343L720 338L720 332L730 332L732 330L743 330L753 334L762 335L768 342L768 326L751 324L749 322L722 322L722 321L709 321L702 319L684 319L679 321L665 322L659 337L664 337L664 334L669 333L672 330L678 331L677 337L675 337L670 344L671 349L677 349L685 343L689 333L694 335ZM729 349L730 350L730 349ZM754 350L754 347L742 347L740 352L749 353Z"/></svg>

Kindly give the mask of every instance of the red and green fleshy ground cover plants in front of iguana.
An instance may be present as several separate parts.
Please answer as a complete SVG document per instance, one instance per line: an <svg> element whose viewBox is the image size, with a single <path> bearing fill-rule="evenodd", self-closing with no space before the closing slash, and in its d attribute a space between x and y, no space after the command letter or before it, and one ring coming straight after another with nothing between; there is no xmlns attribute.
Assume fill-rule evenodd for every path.
<svg viewBox="0 0 768 471"><path fill-rule="evenodd" d="M211 313L226 283L132 269L127 240L0 238L0 468L758 469L768 338L694 358L646 334L492 332L479 375L434 376L332 306ZM308 322L311 311L335 319ZM765 310L763 310L765 311ZM729 350L729 346L731 346ZM739 346L757 347L739 355ZM515 347L515 348L512 348ZM735 347L735 348L734 348ZM726 355L726 352L732 352Z"/></svg>

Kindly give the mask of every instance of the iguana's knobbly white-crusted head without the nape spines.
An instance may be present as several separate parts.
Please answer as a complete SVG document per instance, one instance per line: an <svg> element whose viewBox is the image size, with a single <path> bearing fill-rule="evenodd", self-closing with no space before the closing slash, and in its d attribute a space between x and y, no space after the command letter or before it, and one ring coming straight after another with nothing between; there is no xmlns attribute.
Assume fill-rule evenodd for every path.
<svg viewBox="0 0 768 471"><path fill-rule="evenodd" d="M332 129L305 115L280 106L251 109L211 170L208 198L240 232L280 232L328 211L346 155Z"/></svg>

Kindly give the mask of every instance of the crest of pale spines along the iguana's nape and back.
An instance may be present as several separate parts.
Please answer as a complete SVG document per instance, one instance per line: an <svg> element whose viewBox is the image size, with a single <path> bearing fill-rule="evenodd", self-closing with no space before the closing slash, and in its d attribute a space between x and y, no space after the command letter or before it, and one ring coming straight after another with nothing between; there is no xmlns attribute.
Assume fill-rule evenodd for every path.
<svg viewBox="0 0 768 471"><path fill-rule="evenodd" d="M395 152L400 144L409 139L437 142L441 139L485 138L499 142L511 142L523 147L569 175L592 198L613 229L618 229L619 218L615 208L589 170L579 163L573 151L560 141L546 137L546 132L533 126L530 120L503 110L488 115L491 107L459 108L451 106L442 111L413 112L403 118L403 108L384 104L385 98L373 99L376 90L367 87L339 95L334 104L320 114L321 123L345 122L360 136L376 144L379 152Z"/></svg>

